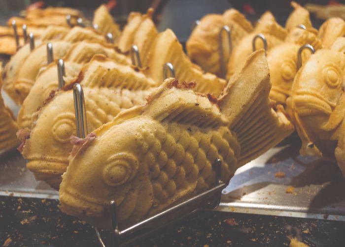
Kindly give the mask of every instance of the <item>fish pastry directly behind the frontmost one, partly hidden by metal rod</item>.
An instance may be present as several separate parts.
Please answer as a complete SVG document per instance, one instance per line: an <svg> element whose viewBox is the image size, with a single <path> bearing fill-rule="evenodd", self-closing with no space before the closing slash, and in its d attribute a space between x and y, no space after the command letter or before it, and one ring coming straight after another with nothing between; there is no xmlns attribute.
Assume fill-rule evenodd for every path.
<svg viewBox="0 0 345 247"><path fill-rule="evenodd" d="M141 104L148 93L128 89L84 87L87 125L89 130L113 119L121 109ZM44 180L55 189L59 188L61 175L68 165L72 151L70 136L76 135L72 90L58 91L36 113L34 126L28 128L27 138L22 139L22 155L28 160L27 168L37 180Z"/></svg>

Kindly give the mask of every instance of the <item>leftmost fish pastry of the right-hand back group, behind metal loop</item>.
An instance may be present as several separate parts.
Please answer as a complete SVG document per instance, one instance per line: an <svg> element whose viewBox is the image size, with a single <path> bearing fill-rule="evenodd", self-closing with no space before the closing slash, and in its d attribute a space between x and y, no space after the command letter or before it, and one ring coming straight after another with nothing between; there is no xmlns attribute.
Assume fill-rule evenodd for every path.
<svg viewBox="0 0 345 247"><path fill-rule="evenodd" d="M219 56L219 32L223 26L231 29L231 42L235 46L244 36L252 32L253 27L236 9L228 9L221 14L208 14L197 25L188 41L188 56L203 70L221 76ZM229 57L229 41L225 34L222 39L224 57Z"/></svg>

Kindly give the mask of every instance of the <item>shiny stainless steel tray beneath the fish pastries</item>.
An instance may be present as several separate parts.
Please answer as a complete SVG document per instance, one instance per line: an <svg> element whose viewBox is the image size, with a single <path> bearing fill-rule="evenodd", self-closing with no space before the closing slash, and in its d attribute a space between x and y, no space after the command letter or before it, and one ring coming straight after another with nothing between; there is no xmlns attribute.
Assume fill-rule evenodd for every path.
<svg viewBox="0 0 345 247"><path fill-rule="evenodd" d="M345 179L334 162L301 157L299 143L269 150L237 170L216 210L345 221ZM284 177L276 177L283 172ZM293 193L286 189L293 186ZM0 195L57 199L17 151L0 157Z"/></svg>

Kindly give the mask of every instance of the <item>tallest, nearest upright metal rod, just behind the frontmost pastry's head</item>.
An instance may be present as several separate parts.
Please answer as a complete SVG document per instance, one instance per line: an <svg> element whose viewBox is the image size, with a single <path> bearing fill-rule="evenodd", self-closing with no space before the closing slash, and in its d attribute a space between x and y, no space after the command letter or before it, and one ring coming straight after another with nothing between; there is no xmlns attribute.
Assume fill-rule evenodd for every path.
<svg viewBox="0 0 345 247"><path fill-rule="evenodd" d="M73 85L73 99L74 99L74 112L75 112L75 124L77 127L77 136L79 138L85 138L88 129L86 122L86 108L84 91L79 83Z"/></svg>

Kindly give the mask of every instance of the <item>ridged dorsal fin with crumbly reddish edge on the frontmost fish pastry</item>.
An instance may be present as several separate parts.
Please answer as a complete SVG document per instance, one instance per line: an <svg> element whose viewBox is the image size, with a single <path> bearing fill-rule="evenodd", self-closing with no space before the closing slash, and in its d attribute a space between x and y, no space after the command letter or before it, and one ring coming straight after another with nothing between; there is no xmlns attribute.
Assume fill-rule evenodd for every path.
<svg viewBox="0 0 345 247"><path fill-rule="evenodd" d="M178 122L203 128L227 124L220 113L217 99L210 94L196 93L196 82L166 79L148 97L143 115L159 121Z"/></svg>

